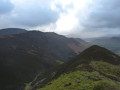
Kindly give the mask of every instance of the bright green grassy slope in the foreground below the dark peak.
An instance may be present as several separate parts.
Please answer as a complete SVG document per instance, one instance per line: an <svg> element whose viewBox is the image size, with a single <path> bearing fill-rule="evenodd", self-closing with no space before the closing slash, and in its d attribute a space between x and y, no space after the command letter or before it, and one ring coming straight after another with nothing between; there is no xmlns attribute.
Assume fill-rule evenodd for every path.
<svg viewBox="0 0 120 90"><path fill-rule="evenodd" d="M81 70L84 65L80 65L37 90L120 90L120 66L102 61L92 61L90 65L96 70Z"/></svg>

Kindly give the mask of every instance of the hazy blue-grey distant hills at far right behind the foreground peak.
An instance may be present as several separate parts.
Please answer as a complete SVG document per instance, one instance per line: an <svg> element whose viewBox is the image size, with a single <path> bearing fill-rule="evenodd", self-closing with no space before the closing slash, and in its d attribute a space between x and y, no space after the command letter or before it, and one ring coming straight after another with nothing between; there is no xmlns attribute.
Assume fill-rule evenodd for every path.
<svg viewBox="0 0 120 90"><path fill-rule="evenodd" d="M120 37L96 39L91 41L90 44L105 47L120 55Z"/></svg>

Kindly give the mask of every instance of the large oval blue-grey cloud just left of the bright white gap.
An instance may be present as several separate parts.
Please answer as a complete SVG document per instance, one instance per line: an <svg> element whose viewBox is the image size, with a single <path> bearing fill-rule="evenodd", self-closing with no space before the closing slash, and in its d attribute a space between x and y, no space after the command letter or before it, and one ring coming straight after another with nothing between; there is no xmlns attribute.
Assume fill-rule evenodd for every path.
<svg viewBox="0 0 120 90"><path fill-rule="evenodd" d="M52 10L49 5L41 3L27 4L24 9L15 10L16 16L11 19L18 24L26 26L39 26L54 23L59 18L59 13Z"/></svg>

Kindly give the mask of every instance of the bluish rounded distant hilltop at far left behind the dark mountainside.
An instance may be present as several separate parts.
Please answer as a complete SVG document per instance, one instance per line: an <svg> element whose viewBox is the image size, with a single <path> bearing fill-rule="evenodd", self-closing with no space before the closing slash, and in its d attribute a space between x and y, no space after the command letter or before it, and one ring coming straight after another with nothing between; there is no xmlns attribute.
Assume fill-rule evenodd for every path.
<svg viewBox="0 0 120 90"><path fill-rule="evenodd" d="M7 28L0 30L0 36L11 35L11 34L19 34L26 32L27 30L19 29L19 28Z"/></svg>

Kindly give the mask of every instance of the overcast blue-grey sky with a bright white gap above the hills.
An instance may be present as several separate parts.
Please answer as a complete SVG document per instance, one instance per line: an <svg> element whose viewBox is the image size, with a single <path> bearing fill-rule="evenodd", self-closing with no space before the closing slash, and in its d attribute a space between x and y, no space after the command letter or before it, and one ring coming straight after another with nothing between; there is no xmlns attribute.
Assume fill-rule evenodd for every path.
<svg viewBox="0 0 120 90"><path fill-rule="evenodd" d="M120 34L120 0L0 0L0 29L81 38Z"/></svg>

